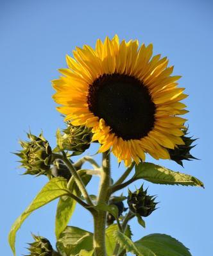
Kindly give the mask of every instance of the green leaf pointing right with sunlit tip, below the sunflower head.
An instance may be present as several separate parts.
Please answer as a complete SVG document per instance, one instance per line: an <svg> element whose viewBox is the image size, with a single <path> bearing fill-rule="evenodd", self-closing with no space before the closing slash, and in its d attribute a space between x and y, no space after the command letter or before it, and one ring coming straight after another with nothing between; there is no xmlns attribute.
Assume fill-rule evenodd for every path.
<svg viewBox="0 0 213 256"><path fill-rule="evenodd" d="M148 162L140 163L135 167L135 180L144 179L148 182L166 185L191 185L203 187L203 182L191 175L178 171L171 171L166 167L157 166Z"/></svg>

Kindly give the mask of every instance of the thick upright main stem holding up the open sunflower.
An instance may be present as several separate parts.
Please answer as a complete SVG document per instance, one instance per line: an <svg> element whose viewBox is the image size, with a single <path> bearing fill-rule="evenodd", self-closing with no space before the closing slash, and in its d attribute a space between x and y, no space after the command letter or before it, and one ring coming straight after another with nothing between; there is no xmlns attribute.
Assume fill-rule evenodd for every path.
<svg viewBox="0 0 213 256"><path fill-rule="evenodd" d="M103 153L101 180L99 184L98 203L108 203L110 187L110 151ZM94 254L95 256L106 256L105 249L105 226L107 212L98 210L94 216Z"/></svg>

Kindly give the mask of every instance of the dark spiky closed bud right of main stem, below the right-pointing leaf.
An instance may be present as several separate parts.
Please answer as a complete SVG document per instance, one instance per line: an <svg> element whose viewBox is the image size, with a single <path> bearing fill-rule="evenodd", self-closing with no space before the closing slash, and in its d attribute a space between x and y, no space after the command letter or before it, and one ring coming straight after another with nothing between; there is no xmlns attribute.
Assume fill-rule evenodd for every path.
<svg viewBox="0 0 213 256"><path fill-rule="evenodd" d="M144 191L143 185L135 192L128 191L127 203L130 210L135 215L147 217L156 210L155 196L147 195L147 189Z"/></svg>

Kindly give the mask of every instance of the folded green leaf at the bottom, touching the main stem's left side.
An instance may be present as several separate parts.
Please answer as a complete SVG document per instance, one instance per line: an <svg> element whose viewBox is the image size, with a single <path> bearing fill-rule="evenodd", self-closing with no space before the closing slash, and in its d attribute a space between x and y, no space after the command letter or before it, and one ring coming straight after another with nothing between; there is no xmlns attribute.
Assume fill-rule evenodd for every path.
<svg viewBox="0 0 213 256"><path fill-rule="evenodd" d="M93 234L76 226L67 226L56 244L62 255L78 255L81 250L93 249Z"/></svg>

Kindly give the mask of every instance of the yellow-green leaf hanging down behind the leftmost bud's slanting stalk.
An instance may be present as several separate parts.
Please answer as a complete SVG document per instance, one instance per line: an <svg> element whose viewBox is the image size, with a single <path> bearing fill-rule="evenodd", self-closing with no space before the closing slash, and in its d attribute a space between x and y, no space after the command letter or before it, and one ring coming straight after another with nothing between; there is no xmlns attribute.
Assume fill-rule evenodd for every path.
<svg viewBox="0 0 213 256"><path fill-rule="evenodd" d="M92 176L87 175L86 173L83 173L83 172L79 172L79 174L81 176L81 180L83 181L83 183L87 185L90 182ZM73 178L69 183L69 191L75 196L81 195ZM56 210L56 219L55 219L55 234L57 239L60 236L60 234L65 230L66 226L68 225L75 207L76 207L76 201L70 197L60 198L60 200L58 201L58 206Z"/></svg>

